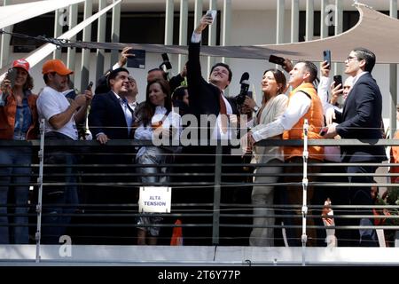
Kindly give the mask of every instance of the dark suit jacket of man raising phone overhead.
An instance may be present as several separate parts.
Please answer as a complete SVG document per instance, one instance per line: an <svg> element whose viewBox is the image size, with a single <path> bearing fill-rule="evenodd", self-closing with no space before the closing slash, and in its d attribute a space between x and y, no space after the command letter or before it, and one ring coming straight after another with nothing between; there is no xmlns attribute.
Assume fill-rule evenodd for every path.
<svg viewBox="0 0 399 284"><path fill-rule="evenodd" d="M220 90L201 75L200 43L189 44L189 61L187 63L187 84L192 114L220 113ZM233 114L239 114L235 99L228 98Z"/></svg>

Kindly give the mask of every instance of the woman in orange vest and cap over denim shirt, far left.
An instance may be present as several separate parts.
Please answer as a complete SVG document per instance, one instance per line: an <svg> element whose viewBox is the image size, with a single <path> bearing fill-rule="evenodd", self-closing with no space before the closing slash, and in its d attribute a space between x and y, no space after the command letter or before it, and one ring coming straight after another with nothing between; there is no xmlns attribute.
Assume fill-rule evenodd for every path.
<svg viewBox="0 0 399 284"><path fill-rule="evenodd" d="M29 75L29 63L17 59L1 83L0 139L30 140L37 138L37 96L32 94L33 79ZM27 199L31 175L31 148L14 146L0 148L0 243L27 244ZM4 167L5 166L5 167ZM9 185L13 184L14 193ZM13 201L11 201L13 197ZM12 217L7 216L7 203L14 206ZM8 227L10 223L15 226Z"/></svg>

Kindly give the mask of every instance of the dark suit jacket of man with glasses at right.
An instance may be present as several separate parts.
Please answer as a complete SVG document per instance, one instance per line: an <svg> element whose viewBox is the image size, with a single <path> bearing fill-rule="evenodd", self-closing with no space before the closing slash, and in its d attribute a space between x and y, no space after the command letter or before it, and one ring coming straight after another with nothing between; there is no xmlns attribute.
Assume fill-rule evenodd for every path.
<svg viewBox="0 0 399 284"><path fill-rule="evenodd" d="M352 87L342 114L336 112L336 130L341 138L382 138L382 96L370 73ZM381 162L387 160L384 146L341 146L342 162Z"/></svg>

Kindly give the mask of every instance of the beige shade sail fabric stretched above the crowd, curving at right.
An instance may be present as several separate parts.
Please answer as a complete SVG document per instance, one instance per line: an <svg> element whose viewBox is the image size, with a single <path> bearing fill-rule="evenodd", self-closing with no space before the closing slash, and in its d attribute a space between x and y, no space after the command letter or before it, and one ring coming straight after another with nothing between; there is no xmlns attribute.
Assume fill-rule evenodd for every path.
<svg viewBox="0 0 399 284"><path fill-rule="evenodd" d="M269 59L270 54L293 59L321 61L323 51L332 51L333 62L343 62L349 51L364 47L376 54L377 63L399 63L399 20L356 4L359 21L338 35L304 43L262 44L252 46L202 46L201 55L242 59ZM187 54L187 46L137 43L70 43L82 48L118 49L125 46L147 52Z"/></svg>

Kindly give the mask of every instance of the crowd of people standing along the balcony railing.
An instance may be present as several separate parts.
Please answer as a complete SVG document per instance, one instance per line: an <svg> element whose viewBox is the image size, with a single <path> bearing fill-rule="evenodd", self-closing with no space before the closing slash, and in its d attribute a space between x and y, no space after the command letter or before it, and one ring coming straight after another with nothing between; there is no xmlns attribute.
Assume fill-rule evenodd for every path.
<svg viewBox="0 0 399 284"><path fill-rule="evenodd" d="M95 167L83 170L94 174L88 177L88 182L104 183L104 188L86 188L84 192L80 192L74 165L79 163L80 155L84 151L76 153L57 146L45 151L46 165L62 164L64 167L61 170L50 167L47 172L49 177L46 182L61 181L62 185L43 188L43 204L49 204L43 206L43 243L59 243L59 236L66 234L66 225L70 224L71 216L78 211L79 204L116 204L115 209L123 210L123 204L136 203L137 187L132 186L132 190L129 186L115 185L115 180L121 183L137 182L141 185L186 182L190 186L184 192L178 190L174 201L196 203L193 210L212 210L216 192L213 186L207 185L215 182L215 156L222 154L220 181L235 182L242 186L222 186L219 193L219 201L224 204L227 212L220 219L224 224L221 226L220 244L271 247L280 244L284 239L288 246L301 246L303 241L308 246L323 245L320 240L324 240L324 230L308 228L307 238L303 239L300 229L303 214L302 146L260 146L257 142L264 139L303 139L305 121L309 123L310 139L383 138L382 97L372 78L375 55L364 48L350 51L345 60L345 74L348 78L343 85L330 83L331 67L326 61L320 67L321 76L316 86L318 70L312 62L304 60L293 65L286 59L282 67L287 76L289 75L288 79L284 71L275 68L264 71L260 106L250 97L246 97L239 104L237 98L228 98L224 94L232 80L231 68L227 64L216 63L210 70L208 80L201 75L201 34L210 24L212 18L209 16L205 15L200 19L189 43L189 60L178 75L168 79L161 68L148 72L145 101L141 103L137 102L137 82L124 67L128 57L132 56L129 48L121 51L119 62L98 80L94 94L91 86L81 94L71 94L69 75L74 72L59 59L47 60L43 64L43 80L46 86L40 94L32 94L33 79L29 75L29 63L25 59L13 61L14 77L9 73L1 83L0 138L37 139L38 122L43 118L46 141L92 138L102 147L90 149L90 158L86 161L98 167L108 165L100 175L96 175L98 169ZM291 91L287 93L289 88ZM252 158L254 171L250 170L250 173L254 174L254 180L248 182L241 175L244 172L240 166L243 162L242 156L231 154L231 150L239 146L223 146L223 153L217 153L217 147L208 144L181 146L180 138L188 127L184 124L184 115L191 115L197 122L202 122L203 115L207 115L206 130L200 131L197 141L232 138L245 141L247 146L244 152ZM239 123L240 117L244 116L252 119L242 125ZM80 127L86 125L86 120L90 129L89 135L86 135L87 131L79 131ZM327 129L322 133L325 126ZM243 129L245 131L240 132ZM176 140L177 144L145 145L137 148L107 145L108 141L115 139ZM0 168L2 244L29 243L28 184L32 156L30 147L0 148L0 164L3 165ZM385 160L387 155L383 146L309 146L308 204L322 205L328 199L333 205L372 206L371 186L365 184L372 183L372 174L378 166L364 164L378 164ZM328 162L331 166L320 167L320 162ZM356 166L334 166L334 162L356 163ZM171 176L172 170L168 164L173 163L195 163L197 166L174 169L177 175ZM135 167L113 167L128 164L134 164ZM316 181L317 173L320 172L332 174L322 179L325 182L341 181L360 185L316 190L312 182ZM346 172L348 177L333 176L333 173L340 172ZM281 185L278 185L279 182ZM10 203L14 204L12 208L7 206ZM242 222L252 224L252 228L234 226L237 222L242 223L235 217L236 213L243 212L234 206L237 203L249 205L249 214L252 213L253 218ZM282 204L288 206L288 210L279 209L278 205ZM97 211L93 209L91 212ZM320 216L320 212L321 210L309 209L307 214ZM343 212L369 216L372 215L372 207L355 207ZM212 214L194 214L181 219L183 224L197 224L184 227L184 244L215 244L211 238ZM283 225L284 232L275 229L276 225L280 225L278 222ZM310 226L321 225L321 222L321 217L307 218L307 225ZM133 229L101 228L101 225L109 223L118 221L104 216L98 221L99 228L90 229L90 233L109 237L114 234L132 236L131 232L135 232L138 245L154 245L160 243L162 231L168 232L162 224L174 222L167 216L160 217L159 214L137 214L136 217L126 217L121 221L122 224L135 224ZM335 220L335 225L372 224L369 217ZM335 234L339 246L378 246L377 235L373 229L336 230Z"/></svg>

